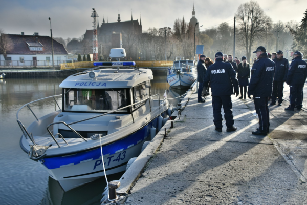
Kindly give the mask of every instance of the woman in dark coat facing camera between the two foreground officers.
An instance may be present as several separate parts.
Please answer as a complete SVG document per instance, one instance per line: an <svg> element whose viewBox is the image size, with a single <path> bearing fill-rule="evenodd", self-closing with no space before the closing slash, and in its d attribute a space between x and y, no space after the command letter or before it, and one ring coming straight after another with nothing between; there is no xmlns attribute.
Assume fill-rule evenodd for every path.
<svg viewBox="0 0 307 205"><path fill-rule="evenodd" d="M246 57L242 57L242 62L238 65L238 81L240 86L241 96L239 99L243 98L243 87L244 87L244 99L246 99L247 86L249 84L248 78L250 78L251 70L249 64L246 61Z"/></svg>

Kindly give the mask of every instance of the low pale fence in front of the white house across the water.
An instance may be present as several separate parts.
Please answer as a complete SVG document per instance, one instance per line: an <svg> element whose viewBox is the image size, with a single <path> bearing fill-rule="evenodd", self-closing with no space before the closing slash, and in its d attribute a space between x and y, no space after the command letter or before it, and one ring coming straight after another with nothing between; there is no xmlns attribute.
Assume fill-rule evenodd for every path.
<svg viewBox="0 0 307 205"><path fill-rule="evenodd" d="M60 66L65 60L54 60L54 66ZM52 60L0 60L4 67L52 67Z"/></svg>

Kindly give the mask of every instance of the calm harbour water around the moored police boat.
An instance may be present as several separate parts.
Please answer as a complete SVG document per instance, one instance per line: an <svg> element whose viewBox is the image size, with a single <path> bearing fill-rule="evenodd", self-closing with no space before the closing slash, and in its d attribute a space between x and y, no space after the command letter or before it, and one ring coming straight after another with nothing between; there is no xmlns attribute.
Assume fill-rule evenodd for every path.
<svg viewBox="0 0 307 205"><path fill-rule="evenodd" d="M0 204L99 204L106 187L104 177L64 192L58 182L50 178L38 162L28 159L19 146L22 133L16 122L18 109L30 101L61 94L59 84L62 80L64 78L0 79ZM169 90L166 72L153 71L152 94L160 93L162 98L165 90ZM168 97L184 93L185 90L171 89ZM178 98L170 100L173 106L177 103ZM53 100L44 100L32 104L31 108L40 117L57 109L57 105ZM26 127L35 120L27 108L20 111L19 118ZM117 180L122 174L108 177L108 180Z"/></svg>

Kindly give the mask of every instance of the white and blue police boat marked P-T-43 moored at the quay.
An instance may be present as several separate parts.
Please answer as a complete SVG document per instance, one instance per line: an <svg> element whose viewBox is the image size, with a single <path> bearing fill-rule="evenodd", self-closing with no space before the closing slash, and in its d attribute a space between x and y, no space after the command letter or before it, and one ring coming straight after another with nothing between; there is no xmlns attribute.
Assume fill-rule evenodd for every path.
<svg viewBox="0 0 307 205"><path fill-rule="evenodd" d="M124 49L111 49L110 57L125 56ZM143 143L166 121L169 104L151 93L152 71L130 67L134 65L94 62L97 67L63 80L61 95L50 96L58 110L36 116L34 105L41 106L37 102L49 97L18 110L21 149L64 191L104 176L103 167L106 175L125 171L129 159L140 154ZM36 118L27 128L18 116L24 107Z"/></svg>

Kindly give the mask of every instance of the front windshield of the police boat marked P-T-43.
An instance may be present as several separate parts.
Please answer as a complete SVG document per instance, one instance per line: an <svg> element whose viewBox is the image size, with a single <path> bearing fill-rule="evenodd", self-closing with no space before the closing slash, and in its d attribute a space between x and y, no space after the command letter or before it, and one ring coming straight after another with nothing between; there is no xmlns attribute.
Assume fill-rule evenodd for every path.
<svg viewBox="0 0 307 205"><path fill-rule="evenodd" d="M64 111L110 112L128 105L127 89L64 89ZM127 113L128 109L119 110Z"/></svg>

